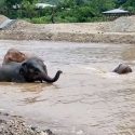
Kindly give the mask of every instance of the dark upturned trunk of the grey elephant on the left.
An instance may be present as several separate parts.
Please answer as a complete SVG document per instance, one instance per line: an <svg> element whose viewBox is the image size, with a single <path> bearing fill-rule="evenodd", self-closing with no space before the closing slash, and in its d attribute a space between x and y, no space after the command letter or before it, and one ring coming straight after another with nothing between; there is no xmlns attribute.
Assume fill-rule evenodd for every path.
<svg viewBox="0 0 135 135"><path fill-rule="evenodd" d="M58 80L58 78L59 78L59 76L60 76L62 72L63 72L63 71L58 70L58 71L56 72L56 75L55 75L54 78L50 78L49 76L45 76L45 77L43 78L43 81L45 81L45 82L48 82L48 83L53 83L53 82L55 82L55 81Z"/></svg>

